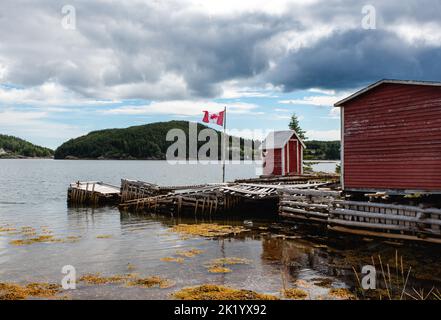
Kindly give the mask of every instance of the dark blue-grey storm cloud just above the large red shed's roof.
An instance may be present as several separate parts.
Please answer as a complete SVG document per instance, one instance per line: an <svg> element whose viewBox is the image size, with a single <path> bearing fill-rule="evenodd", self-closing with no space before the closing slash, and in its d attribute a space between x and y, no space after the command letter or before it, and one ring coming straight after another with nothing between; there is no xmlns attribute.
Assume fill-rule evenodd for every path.
<svg viewBox="0 0 441 320"><path fill-rule="evenodd" d="M348 89L379 79L441 80L441 50L415 46L387 31L335 32L288 53L268 79L285 91Z"/></svg>

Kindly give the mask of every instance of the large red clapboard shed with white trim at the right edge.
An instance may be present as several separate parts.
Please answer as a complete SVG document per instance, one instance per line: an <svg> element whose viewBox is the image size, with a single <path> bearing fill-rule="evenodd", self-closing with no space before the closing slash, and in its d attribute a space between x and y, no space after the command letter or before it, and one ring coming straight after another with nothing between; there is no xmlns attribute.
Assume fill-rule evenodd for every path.
<svg viewBox="0 0 441 320"><path fill-rule="evenodd" d="M441 83L381 80L335 106L345 191L441 193Z"/></svg>

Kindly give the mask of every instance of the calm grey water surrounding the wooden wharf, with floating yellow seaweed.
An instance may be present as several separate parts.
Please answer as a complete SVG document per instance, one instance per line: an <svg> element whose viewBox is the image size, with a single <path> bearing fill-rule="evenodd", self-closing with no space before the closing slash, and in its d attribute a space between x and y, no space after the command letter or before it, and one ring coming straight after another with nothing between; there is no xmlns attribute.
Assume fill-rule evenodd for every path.
<svg viewBox="0 0 441 320"><path fill-rule="evenodd" d="M227 167L227 179L256 175L252 165ZM79 284L69 298L84 299L167 299L182 287L216 283L236 288L279 294L283 287L299 287L310 298L330 298L329 288L316 285L317 278L330 279L332 287L354 288L352 267L360 269L381 254L384 261L394 259L397 250L412 266L412 284L431 286L441 280L439 247L414 246L344 236L328 237L325 229L286 225L273 212L205 222L244 225L251 231L226 239L195 237L183 240L170 232L177 223L203 220L172 219L168 216L121 213L115 207L73 209L66 206L66 191L76 180L101 180L119 185L121 178L145 180L161 185L219 182L219 166L170 166L155 161L54 161L0 160L0 228L32 227L50 231L56 238L80 237L75 242L34 243L17 246L17 232L0 232L0 282L56 282L61 268L73 265L77 275L100 272L103 275L137 273L159 275L173 280L169 289L126 288L121 285L88 286ZM248 217L247 217L248 216ZM99 239L97 236L108 238ZM332 239L332 241L330 240ZM164 262L177 250L201 249L204 252L184 263ZM227 274L207 272L209 260L241 257L248 265L231 266ZM413 279L416 279L415 281ZM414 282L413 282L414 281Z"/></svg>

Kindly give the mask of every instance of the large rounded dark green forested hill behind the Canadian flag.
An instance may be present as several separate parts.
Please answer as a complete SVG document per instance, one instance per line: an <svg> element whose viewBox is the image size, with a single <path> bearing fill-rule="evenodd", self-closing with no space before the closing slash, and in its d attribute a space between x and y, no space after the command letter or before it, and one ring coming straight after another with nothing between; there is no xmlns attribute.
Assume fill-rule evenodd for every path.
<svg viewBox="0 0 441 320"><path fill-rule="evenodd" d="M197 124L198 132L208 128ZM106 129L71 139L55 150L55 159L146 159L164 160L168 147L167 132L181 129L188 138L188 121L156 122L125 129ZM220 138L219 137L219 148ZM198 148L205 144L198 142ZM188 145L188 142L187 142ZM241 140L241 146L243 140ZM243 154L243 148L241 148Z"/></svg>

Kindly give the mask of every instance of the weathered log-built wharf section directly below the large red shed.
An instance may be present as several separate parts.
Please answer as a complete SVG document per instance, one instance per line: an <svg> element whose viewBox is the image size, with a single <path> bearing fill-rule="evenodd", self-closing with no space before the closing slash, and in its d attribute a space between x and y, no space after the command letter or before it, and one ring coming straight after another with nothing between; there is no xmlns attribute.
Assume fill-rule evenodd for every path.
<svg viewBox="0 0 441 320"><path fill-rule="evenodd" d="M334 190L284 188L279 215L293 221L323 224L335 232L441 244L438 208L347 201Z"/></svg>

